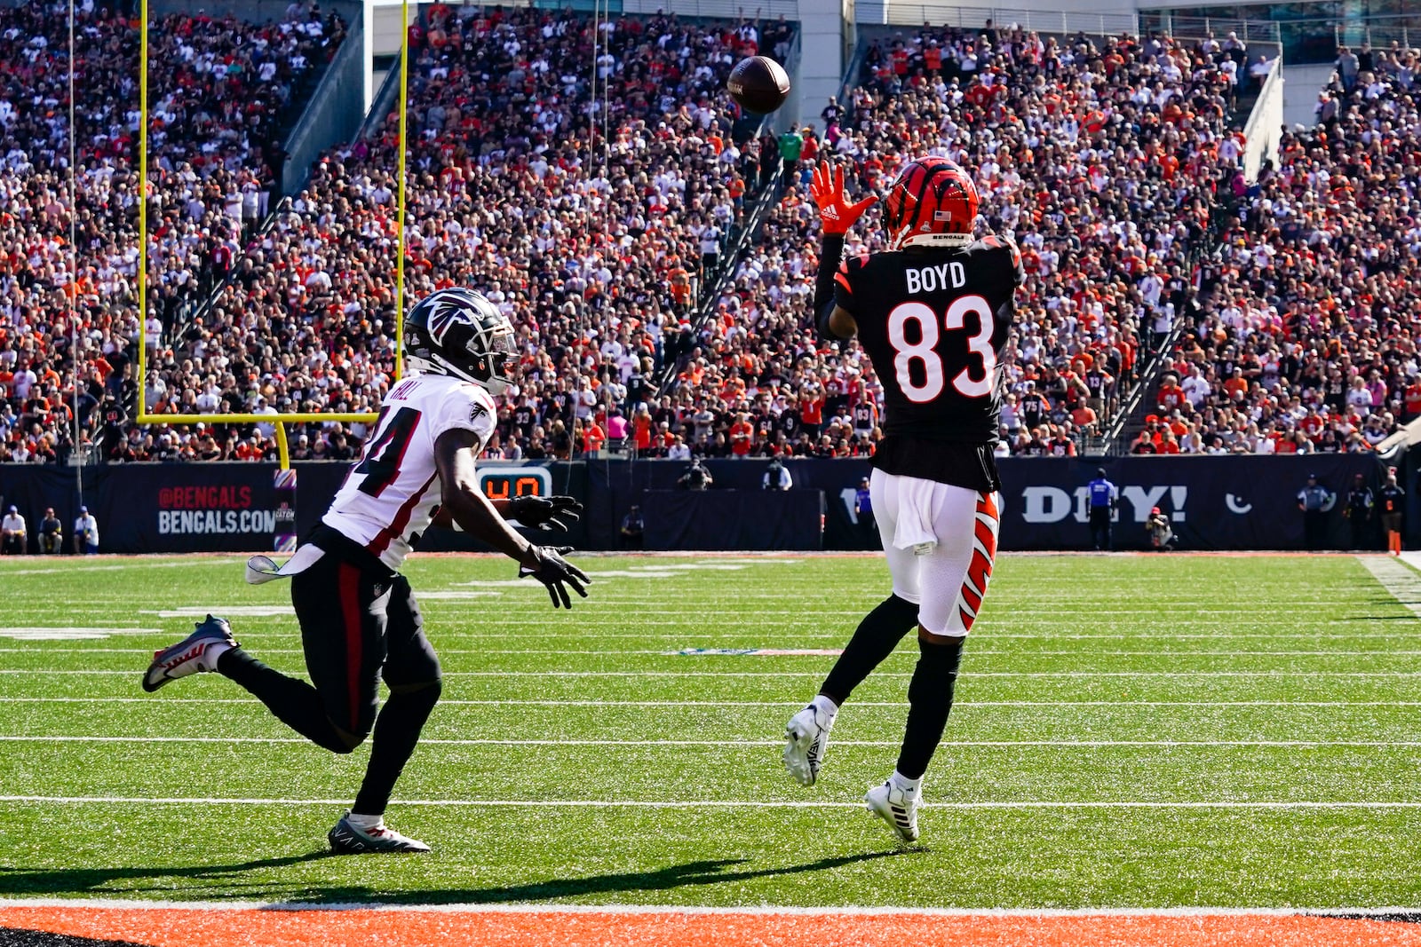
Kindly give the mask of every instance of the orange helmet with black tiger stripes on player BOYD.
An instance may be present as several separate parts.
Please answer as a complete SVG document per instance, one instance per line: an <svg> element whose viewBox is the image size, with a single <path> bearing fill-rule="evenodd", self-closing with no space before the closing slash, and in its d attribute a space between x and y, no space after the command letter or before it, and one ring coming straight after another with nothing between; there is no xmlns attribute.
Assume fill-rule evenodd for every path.
<svg viewBox="0 0 1421 947"><path fill-rule="evenodd" d="M888 189L888 248L965 247L972 243L978 193L972 177L946 158L908 162Z"/></svg>

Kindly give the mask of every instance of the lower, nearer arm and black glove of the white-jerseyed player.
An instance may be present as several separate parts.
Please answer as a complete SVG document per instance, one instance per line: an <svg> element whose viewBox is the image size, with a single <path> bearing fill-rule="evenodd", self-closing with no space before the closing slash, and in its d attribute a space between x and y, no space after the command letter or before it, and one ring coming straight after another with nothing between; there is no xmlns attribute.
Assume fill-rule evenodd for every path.
<svg viewBox="0 0 1421 947"><path fill-rule="evenodd" d="M519 564L519 575L530 575L553 598L553 606L571 608L567 589L587 598L585 585L591 579L563 557L573 547L540 547L520 537L499 514L493 503L479 490L475 459L483 443L472 430L452 429L435 442L435 467L439 470L441 515L459 525L472 537L483 540Z"/></svg>

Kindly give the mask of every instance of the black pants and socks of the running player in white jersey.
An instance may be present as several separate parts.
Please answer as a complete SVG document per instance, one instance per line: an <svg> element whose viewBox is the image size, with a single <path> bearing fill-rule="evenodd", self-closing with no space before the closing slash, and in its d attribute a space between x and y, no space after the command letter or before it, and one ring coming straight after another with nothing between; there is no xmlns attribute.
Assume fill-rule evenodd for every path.
<svg viewBox="0 0 1421 947"><path fill-rule="evenodd" d="M223 655L217 670L333 752L352 751L374 728L352 811L379 815L439 700L439 659L405 576L328 527L318 527L308 541L324 555L291 576L291 603L311 683L273 670L240 647ZM381 679L389 686L384 708Z"/></svg>

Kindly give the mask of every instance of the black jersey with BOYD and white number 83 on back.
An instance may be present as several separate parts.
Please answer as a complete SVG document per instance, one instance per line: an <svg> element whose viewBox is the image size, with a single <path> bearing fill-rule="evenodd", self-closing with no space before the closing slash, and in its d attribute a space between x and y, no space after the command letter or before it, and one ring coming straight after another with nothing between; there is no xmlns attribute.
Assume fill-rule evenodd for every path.
<svg viewBox="0 0 1421 947"><path fill-rule="evenodd" d="M884 442L874 466L971 490L996 490L1000 358L1025 283L1005 237L845 260L834 302L884 386Z"/></svg>

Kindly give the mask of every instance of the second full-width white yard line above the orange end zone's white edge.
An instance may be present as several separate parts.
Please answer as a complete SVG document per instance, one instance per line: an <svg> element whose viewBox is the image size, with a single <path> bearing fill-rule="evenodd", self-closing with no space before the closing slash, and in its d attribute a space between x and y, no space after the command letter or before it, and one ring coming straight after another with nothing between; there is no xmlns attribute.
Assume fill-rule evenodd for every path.
<svg viewBox="0 0 1421 947"><path fill-rule="evenodd" d="M0 743L215 743L215 744L308 744L304 737L3 737ZM782 747L783 740L425 740L419 745L448 747L728 747L755 748ZM836 740L836 747L899 747L901 740ZM953 747L978 748L1020 748L1020 747L1066 747L1066 748L1175 748L1175 747L1229 747L1229 748L1358 748L1358 750L1414 750L1421 740L953 740L942 744L944 750Z"/></svg>

